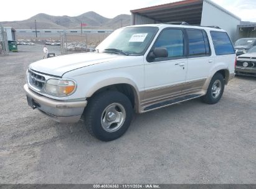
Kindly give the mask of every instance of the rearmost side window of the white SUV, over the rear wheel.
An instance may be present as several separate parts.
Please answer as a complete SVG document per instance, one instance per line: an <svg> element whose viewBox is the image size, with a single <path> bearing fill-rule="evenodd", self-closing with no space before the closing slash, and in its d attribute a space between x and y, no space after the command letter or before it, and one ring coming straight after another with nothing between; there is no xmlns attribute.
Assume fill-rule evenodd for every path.
<svg viewBox="0 0 256 189"><path fill-rule="evenodd" d="M226 32L211 31L216 55L234 54L235 50Z"/></svg>

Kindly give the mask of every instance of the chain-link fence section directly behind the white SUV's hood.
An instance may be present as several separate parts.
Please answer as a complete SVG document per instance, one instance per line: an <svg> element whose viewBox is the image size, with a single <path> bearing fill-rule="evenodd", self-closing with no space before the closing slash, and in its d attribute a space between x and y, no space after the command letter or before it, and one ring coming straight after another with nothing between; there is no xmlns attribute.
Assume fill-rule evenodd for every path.
<svg viewBox="0 0 256 189"><path fill-rule="evenodd" d="M62 55L92 52L110 33L62 33L60 34L60 52Z"/></svg>

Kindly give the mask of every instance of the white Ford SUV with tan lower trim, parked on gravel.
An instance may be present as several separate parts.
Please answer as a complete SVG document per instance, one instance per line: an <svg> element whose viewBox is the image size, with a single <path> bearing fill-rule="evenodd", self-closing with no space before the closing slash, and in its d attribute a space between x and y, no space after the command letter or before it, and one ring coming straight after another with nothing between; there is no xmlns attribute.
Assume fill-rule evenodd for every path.
<svg viewBox="0 0 256 189"><path fill-rule="evenodd" d="M59 122L84 119L90 134L111 141L125 133L134 111L200 96L217 103L235 62L225 30L135 25L115 30L95 52L31 63L24 89L33 109Z"/></svg>

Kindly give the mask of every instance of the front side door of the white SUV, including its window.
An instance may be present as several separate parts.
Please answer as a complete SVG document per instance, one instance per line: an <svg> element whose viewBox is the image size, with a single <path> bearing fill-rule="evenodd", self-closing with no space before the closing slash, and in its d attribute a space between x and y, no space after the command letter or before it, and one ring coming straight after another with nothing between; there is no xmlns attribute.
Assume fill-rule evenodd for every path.
<svg viewBox="0 0 256 189"><path fill-rule="evenodd" d="M155 58L152 62L145 59L146 93L151 93L154 90L162 96L170 96L183 90L187 72L185 44L184 29L167 28L161 31L152 50L166 48L168 57ZM146 95L145 97L151 96Z"/></svg>

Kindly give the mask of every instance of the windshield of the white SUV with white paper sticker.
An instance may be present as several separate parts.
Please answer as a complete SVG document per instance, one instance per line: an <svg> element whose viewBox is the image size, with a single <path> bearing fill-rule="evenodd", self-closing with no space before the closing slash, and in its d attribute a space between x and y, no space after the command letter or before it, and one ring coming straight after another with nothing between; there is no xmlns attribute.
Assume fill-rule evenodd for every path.
<svg viewBox="0 0 256 189"><path fill-rule="evenodd" d="M158 27L126 27L115 30L96 47L97 52L143 55Z"/></svg>

